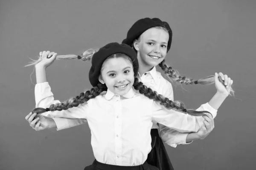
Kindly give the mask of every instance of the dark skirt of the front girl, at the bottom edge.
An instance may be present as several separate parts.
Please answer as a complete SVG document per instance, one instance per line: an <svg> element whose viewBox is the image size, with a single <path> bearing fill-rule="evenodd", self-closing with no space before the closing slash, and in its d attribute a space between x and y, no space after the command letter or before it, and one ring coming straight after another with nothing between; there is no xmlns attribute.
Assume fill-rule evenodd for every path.
<svg viewBox="0 0 256 170"><path fill-rule="evenodd" d="M84 170L159 170L157 167L149 165L145 162L142 165L138 166L118 166L118 165L110 165L103 164L96 159L93 161L93 164L84 168Z"/></svg>

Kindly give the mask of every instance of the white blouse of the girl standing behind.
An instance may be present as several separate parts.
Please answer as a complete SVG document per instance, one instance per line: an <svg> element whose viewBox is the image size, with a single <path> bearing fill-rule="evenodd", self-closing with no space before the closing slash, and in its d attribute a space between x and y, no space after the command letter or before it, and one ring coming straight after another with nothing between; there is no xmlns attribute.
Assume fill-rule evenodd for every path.
<svg viewBox="0 0 256 170"><path fill-rule="evenodd" d="M145 84L145 86L150 87L154 91L157 91L158 94L161 94L165 96L166 98L169 98L170 100L174 101L173 98L173 89L172 84L167 81L160 72L157 72L156 67L153 67L151 71L145 72L143 75L140 75L140 80ZM35 88L35 91L38 91L40 89ZM55 101L56 103L60 101ZM47 107L44 106L43 107ZM208 111L212 114L217 114L217 110L212 108L208 103L202 104L197 111ZM63 130L70 127L78 126L80 124L84 124L86 119L70 119L70 118L53 118L56 125L57 130ZM172 147L177 147L177 144L190 144L186 143L186 137L188 133L181 133L177 130L170 129L168 127L165 127L161 124L157 124L155 121L153 121L152 129L159 129L159 135L163 142L168 144Z"/></svg>

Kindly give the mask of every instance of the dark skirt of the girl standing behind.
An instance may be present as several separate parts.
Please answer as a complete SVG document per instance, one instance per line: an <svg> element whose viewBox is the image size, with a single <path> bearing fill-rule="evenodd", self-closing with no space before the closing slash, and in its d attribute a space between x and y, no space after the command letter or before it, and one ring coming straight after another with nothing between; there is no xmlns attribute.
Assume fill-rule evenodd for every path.
<svg viewBox="0 0 256 170"><path fill-rule="evenodd" d="M151 129L151 139L152 149L148 153L148 164L158 167L159 170L174 170L157 129Z"/></svg>

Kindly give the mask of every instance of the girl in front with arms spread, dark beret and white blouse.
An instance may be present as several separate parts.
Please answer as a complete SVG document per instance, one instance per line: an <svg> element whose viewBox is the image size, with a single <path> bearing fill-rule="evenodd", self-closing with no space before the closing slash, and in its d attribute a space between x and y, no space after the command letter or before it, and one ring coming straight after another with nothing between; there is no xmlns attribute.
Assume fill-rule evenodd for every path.
<svg viewBox="0 0 256 170"><path fill-rule="evenodd" d="M52 60L42 60L43 70L56 55L49 53L47 56ZM45 72L36 70L37 77L42 76L37 79L35 87L36 106L39 108L32 113L88 121L96 160L85 170L154 169L146 162L151 150L152 121L190 133L197 132L201 126L207 128L204 121L210 122L215 118L216 112L211 115L207 111L187 110L182 102L170 101L147 88L137 78L134 79L138 67L136 53L131 47L107 44L92 58L89 80L94 88L63 103L54 103ZM44 109L41 105L49 107ZM207 116L202 117L204 112ZM40 121L35 121L36 127L40 127Z"/></svg>

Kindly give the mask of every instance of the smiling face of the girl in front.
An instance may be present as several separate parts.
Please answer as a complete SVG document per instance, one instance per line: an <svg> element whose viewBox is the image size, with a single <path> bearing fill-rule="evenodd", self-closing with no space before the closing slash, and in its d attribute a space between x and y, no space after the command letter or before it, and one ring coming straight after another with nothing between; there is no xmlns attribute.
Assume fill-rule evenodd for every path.
<svg viewBox="0 0 256 170"><path fill-rule="evenodd" d="M110 58L102 64L99 81L117 94L125 95L134 84L134 71L127 58Z"/></svg>

